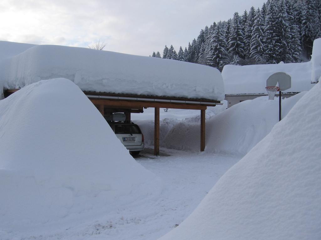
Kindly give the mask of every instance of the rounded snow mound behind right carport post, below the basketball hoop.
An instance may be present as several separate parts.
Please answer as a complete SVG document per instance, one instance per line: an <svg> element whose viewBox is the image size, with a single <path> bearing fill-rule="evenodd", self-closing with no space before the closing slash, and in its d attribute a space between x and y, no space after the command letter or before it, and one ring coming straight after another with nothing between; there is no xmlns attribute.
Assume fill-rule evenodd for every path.
<svg viewBox="0 0 321 240"><path fill-rule="evenodd" d="M306 92L282 100L282 118ZM206 110L207 112L207 110ZM199 151L200 117L176 124L162 141L167 148ZM245 155L279 121L279 99L240 102L206 120L205 151Z"/></svg>

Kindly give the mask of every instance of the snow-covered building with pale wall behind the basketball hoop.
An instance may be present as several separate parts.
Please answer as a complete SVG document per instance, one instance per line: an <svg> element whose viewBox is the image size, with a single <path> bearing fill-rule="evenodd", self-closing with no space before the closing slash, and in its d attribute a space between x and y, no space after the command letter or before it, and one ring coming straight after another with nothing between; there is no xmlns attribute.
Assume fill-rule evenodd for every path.
<svg viewBox="0 0 321 240"><path fill-rule="evenodd" d="M281 62L279 64L247 66L225 65L222 76L228 108L239 102L267 95L266 80L276 72L285 72L291 76L291 88L282 91L283 98L310 90L314 86L313 83L317 83L321 76L320 52L321 38L318 38L313 43L312 58L309 62Z"/></svg>

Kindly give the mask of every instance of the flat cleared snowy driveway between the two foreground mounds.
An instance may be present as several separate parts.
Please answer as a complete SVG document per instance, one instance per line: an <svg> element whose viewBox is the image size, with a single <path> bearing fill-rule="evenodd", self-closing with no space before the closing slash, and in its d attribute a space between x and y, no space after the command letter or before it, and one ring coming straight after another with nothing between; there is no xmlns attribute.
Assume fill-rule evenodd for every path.
<svg viewBox="0 0 321 240"><path fill-rule="evenodd" d="M223 173L239 161L233 156L191 154L165 148L161 152L169 156L155 157L147 151L136 159L161 179L160 194L155 192L148 200L142 198L122 205L104 216L65 222L59 228L43 224L22 233L0 231L0 239L157 239L186 219Z"/></svg>

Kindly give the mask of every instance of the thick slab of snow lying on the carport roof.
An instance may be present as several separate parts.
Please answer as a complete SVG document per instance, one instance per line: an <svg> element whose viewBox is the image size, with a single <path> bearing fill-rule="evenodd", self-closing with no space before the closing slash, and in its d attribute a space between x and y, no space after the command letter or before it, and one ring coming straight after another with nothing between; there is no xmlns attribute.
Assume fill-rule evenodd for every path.
<svg viewBox="0 0 321 240"><path fill-rule="evenodd" d="M35 45L0 61L0 83L3 81L4 88L58 77L73 81L83 91L224 99L223 79L217 69L177 60Z"/></svg>

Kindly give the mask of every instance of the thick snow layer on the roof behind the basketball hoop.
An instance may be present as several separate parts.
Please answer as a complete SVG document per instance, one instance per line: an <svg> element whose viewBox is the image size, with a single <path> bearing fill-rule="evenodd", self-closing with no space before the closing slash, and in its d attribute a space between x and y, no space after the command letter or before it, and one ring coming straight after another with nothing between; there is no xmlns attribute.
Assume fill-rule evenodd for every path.
<svg viewBox="0 0 321 240"><path fill-rule="evenodd" d="M222 70L225 93L227 95L266 94L266 80L276 72L285 72L291 76L291 88L284 92L303 92L313 87L311 84L311 62L247 66L225 65Z"/></svg>

